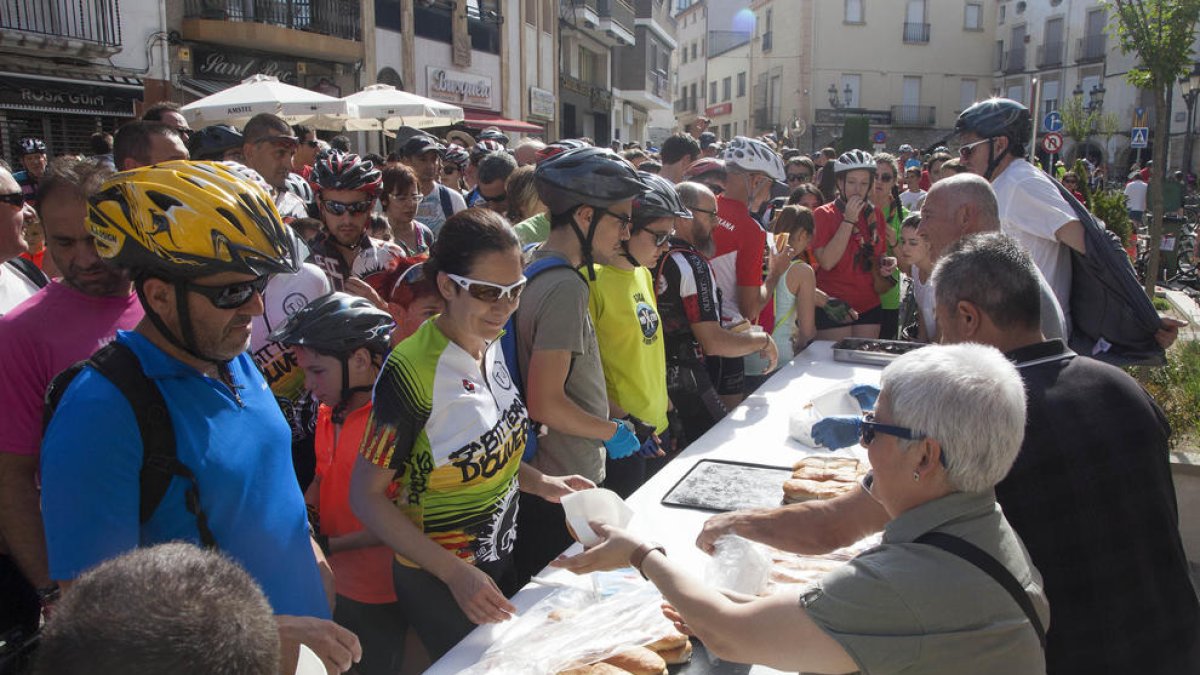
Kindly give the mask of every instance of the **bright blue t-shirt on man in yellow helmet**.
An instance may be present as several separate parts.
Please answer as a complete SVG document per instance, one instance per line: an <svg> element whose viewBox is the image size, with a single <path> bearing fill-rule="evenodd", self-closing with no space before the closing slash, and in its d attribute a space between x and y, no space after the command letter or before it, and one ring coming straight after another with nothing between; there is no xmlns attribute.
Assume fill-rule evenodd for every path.
<svg viewBox="0 0 1200 675"><path fill-rule="evenodd" d="M329 619L292 468L292 432L250 356L229 362L235 398L138 333L121 330L116 340L167 400L178 456L196 474L221 551L250 572L276 614ZM84 369L62 395L41 461L52 578L74 579L139 545L199 544L184 479L174 478L150 520L138 522L142 436L128 400L95 370Z"/></svg>

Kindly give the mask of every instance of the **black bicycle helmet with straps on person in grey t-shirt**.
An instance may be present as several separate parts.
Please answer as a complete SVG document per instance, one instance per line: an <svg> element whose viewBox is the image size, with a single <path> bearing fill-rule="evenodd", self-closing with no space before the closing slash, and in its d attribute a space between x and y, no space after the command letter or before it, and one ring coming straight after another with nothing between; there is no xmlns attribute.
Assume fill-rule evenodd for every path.
<svg viewBox="0 0 1200 675"><path fill-rule="evenodd" d="M607 148L580 148L568 150L544 160L533 172L538 197L546 204L553 216L570 213L576 207L595 207L587 234L580 229L575 219L571 228L580 240L583 264L588 276L595 280L592 269L592 238L595 237L596 223L607 209L617 202L632 199L649 189L642 181L634 165L620 159L620 155Z"/></svg>

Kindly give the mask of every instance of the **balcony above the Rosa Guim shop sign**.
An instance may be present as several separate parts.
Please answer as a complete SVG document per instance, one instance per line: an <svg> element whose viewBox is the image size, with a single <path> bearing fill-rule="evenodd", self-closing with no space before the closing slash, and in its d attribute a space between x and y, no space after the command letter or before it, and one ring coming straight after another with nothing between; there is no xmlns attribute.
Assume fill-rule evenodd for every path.
<svg viewBox="0 0 1200 675"><path fill-rule="evenodd" d="M110 56L121 49L120 0L6 0L0 4L0 42L26 53L44 48L59 55Z"/></svg>

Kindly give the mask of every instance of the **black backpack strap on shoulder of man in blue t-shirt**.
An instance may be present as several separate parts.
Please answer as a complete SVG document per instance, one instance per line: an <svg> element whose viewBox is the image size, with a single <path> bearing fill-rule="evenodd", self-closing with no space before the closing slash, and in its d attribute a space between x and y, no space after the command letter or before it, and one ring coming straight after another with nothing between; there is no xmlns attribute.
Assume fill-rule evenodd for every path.
<svg viewBox="0 0 1200 675"><path fill-rule="evenodd" d="M142 370L142 362L131 348L121 342L109 342L101 347L86 362L80 362L59 374L46 392L43 420L49 424L54 410L58 408L62 394L71 381L85 365L96 369L112 382L128 400L138 423L142 436L142 472L139 476L140 502L138 507L139 522L146 522L162 503L176 476L187 482L185 503L187 510L196 516L196 528L200 543L205 548L217 548L216 538L209 530L208 516L200 509L199 485L196 474L184 462L179 461L175 447L175 428L162 392Z"/></svg>

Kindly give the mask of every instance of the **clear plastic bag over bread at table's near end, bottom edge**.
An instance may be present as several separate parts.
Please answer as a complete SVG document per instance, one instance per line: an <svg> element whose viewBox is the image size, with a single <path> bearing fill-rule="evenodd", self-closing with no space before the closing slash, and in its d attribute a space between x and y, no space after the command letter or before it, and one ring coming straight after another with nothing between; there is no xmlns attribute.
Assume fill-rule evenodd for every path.
<svg viewBox="0 0 1200 675"><path fill-rule="evenodd" d="M674 632L662 595L632 569L592 574L593 589L558 589L514 621L464 675L553 675Z"/></svg>

